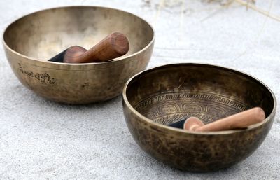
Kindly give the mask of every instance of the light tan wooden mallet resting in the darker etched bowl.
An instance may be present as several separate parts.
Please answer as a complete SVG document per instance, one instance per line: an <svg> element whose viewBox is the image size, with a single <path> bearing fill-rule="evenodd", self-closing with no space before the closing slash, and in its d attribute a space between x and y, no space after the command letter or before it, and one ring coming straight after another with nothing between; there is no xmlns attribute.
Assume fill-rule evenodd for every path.
<svg viewBox="0 0 280 180"><path fill-rule="evenodd" d="M179 122L170 124L169 126L179 128L183 126L184 130L195 132L211 132L242 129L256 123L261 123L262 120L265 120L265 111L263 111L260 107L255 107L253 109L216 120L215 122L207 125L204 125L204 123L202 123L202 121L198 118L190 117L186 120L180 120Z"/></svg>

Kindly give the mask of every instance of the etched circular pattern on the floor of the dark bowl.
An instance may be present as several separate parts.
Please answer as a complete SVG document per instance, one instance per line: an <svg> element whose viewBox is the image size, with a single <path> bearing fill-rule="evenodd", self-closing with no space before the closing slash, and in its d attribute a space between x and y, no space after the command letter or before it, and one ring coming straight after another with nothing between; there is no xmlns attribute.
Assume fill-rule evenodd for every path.
<svg viewBox="0 0 280 180"><path fill-rule="evenodd" d="M175 123L195 116L211 123L248 109L245 103L211 92L165 92L138 102L137 111L157 123Z"/></svg>

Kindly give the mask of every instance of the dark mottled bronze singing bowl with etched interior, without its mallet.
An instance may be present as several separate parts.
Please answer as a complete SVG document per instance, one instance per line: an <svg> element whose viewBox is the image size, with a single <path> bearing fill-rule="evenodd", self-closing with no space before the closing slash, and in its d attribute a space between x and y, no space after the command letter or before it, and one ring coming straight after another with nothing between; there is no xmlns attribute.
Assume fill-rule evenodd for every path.
<svg viewBox="0 0 280 180"><path fill-rule="evenodd" d="M195 116L210 123L260 106L266 119L242 130L190 132L167 124ZM154 158L190 172L235 165L255 151L272 127L276 99L256 78L208 64L169 64L133 76L123 90L125 120Z"/></svg>

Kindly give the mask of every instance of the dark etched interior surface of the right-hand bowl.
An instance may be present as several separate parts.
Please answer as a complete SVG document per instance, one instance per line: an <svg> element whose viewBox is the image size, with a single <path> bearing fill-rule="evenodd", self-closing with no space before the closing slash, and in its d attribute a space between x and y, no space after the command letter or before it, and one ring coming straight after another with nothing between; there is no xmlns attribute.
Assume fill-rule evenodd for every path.
<svg viewBox="0 0 280 180"><path fill-rule="evenodd" d="M206 64L170 64L144 71L126 90L139 113L169 124L195 116L204 123L260 106L272 112L272 92L238 71Z"/></svg>

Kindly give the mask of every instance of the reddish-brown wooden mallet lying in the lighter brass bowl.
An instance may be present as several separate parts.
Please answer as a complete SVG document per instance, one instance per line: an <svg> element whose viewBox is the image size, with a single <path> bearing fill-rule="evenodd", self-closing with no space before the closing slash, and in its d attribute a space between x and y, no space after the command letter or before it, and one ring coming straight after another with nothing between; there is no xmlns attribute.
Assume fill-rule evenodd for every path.
<svg viewBox="0 0 280 180"><path fill-rule="evenodd" d="M66 63L106 62L125 55L130 48L127 37L113 32L97 45L86 50L80 46L71 46L48 61Z"/></svg>

